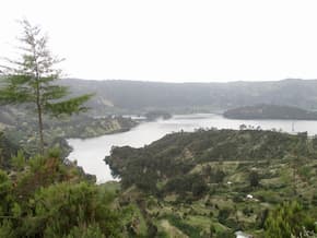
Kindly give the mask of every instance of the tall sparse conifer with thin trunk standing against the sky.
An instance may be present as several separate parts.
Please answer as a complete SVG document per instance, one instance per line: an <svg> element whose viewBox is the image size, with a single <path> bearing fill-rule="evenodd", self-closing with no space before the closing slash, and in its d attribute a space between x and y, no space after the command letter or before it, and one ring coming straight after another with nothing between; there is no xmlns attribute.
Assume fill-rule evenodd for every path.
<svg viewBox="0 0 317 238"><path fill-rule="evenodd" d="M68 87L55 84L61 70L56 64L62 60L54 57L47 47L47 36L39 26L27 20L21 21L22 36L20 59L5 59L1 66L0 103L30 104L34 106L38 120L39 151L44 153L43 115L54 117L85 111L84 103L91 94L70 98Z"/></svg>

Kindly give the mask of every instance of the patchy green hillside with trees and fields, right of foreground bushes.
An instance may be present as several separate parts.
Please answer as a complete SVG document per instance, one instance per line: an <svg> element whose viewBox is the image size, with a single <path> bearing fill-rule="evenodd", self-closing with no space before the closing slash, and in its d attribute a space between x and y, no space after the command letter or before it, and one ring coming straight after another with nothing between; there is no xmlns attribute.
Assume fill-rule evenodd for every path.
<svg viewBox="0 0 317 238"><path fill-rule="evenodd" d="M317 221L316 142L305 133L200 130L114 147L105 160L121 178L120 204L140 210L139 235L154 225L166 237L263 237L285 201L298 201Z"/></svg>

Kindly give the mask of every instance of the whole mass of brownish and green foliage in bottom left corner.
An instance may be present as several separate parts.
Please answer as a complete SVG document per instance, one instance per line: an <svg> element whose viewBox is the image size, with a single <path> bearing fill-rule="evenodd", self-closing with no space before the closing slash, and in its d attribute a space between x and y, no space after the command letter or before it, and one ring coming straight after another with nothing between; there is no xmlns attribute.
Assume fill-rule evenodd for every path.
<svg viewBox="0 0 317 238"><path fill-rule="evenodd" d="M85 180L58 150L23 158L14 176L0 170L0 237L119 237L121 211L113 192ZM20 157L16 159L16 157ZM15 168L14 167L14 168Z"/></svg>

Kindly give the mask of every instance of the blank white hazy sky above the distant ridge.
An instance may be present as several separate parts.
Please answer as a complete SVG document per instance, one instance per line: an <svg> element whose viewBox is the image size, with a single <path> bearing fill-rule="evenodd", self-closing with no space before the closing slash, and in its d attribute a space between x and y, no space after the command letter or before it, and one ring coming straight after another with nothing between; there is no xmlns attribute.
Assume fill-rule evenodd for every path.
<svg viewBox="0 0 317 238"><path fill-rule="evenodd" d="M165 82L317 78L316 0L1 0L0 56L26 17L68 76Z"/></svg>

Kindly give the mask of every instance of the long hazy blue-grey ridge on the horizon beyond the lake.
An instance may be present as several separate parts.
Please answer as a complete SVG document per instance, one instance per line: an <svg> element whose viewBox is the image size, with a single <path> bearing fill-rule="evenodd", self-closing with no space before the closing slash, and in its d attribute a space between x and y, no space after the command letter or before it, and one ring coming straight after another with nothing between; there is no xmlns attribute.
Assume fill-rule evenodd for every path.
<svg viewBox="0 0 317 238"><path fill-rule="evenodd" d="M95 111L168 109L225 110L250 104L317 109L317 80L230 83L157 83L64 79L71 92L95 92L90 103ZM107 108L107 109L105 109Z"/></svg>

